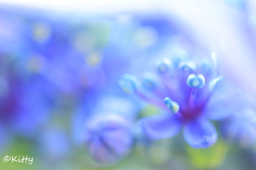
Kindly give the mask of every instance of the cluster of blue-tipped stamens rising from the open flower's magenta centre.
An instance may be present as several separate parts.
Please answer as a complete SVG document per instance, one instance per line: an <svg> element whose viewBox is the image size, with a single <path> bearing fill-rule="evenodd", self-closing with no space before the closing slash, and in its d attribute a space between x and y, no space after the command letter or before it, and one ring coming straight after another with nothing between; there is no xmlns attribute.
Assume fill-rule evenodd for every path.
<svg viewBox="0 0 256 170"><path fill-rule="evenodd" d="M160 79L154 79L154 76L147 74L139 82L134 75L126 74L119 81L119 84L127 93L134 93L150 104L169 109L172 113L178 113L178 115L185 117L185 119L194 119L200 115L204 104L217 84L221 82L222 77L218 76L210 81L208 79L208 88L200 90L200 97L198 97L197 91L206 85L206 79L203 75L204 70L207 70L207 72L205 71L205 75L207 75L209 70L211 71L213 68L210 68L210 65L204 65L201 67L204 70L197 71L197 64L186 60L176 65L175 70L169 59L163 59L158 63L157 67L158 78ZM192 88L190 92L188 92L189 87ZM202 95L202 93L206 93L206 95Z"/></svg>

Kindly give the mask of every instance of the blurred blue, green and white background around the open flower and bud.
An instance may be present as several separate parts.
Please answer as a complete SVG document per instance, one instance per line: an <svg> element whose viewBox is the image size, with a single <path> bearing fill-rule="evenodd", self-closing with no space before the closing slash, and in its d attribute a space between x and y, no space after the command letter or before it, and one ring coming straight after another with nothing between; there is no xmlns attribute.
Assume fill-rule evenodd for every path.
<svg viewBox="0 0 256 170"><path fill-rule="evenodd" d="M184 49L215 52L254 120L255 46L254 0L0 2L0 169L254 170L255 122L248 132L237 125L245 133L236 140L221 132L225 121L215 122L219 138L206 149L190 147L182 134L148 142L137 120L159 108L124 93L119 79ZM92 159L98 151L86 133L106 113L121 115L117 126L133 137L118 161L98 148L102 163ZM33 163L4 162L5 155Z"/></svg>

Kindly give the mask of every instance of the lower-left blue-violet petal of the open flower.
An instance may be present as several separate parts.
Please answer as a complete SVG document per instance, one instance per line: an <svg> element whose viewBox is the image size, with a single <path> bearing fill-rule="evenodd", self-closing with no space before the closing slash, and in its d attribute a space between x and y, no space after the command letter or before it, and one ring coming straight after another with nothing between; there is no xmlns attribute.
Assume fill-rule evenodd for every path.
<svg viewBox="0 0 256 170"><path fill-rule="evenodd" d="M143 132L151 139L164 139L176 135L181 127L177 115L164 114L141 119Z"/></svg>

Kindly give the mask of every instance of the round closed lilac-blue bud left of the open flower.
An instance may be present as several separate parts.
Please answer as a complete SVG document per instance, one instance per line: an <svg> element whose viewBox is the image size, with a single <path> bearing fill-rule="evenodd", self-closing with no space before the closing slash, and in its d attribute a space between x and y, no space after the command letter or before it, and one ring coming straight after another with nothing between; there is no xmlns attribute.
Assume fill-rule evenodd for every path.
<svg viewBox="0 0 256 170"><path fill-rule="evenodd" d="M118 114L94 115L87 121L85 141L89 156L98 163L115 163L130 152L130 124Z"/></svg>

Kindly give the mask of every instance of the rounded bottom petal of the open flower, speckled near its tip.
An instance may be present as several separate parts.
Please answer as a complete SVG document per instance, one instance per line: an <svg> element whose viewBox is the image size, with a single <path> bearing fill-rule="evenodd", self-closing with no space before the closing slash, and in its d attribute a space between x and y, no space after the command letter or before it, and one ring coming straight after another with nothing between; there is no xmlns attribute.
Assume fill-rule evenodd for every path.
<svg viewBox="0 0 256 170"><path fill-rule="evenodd" d="M217 132L210 122L197 120L184 128L184 139L193 148L207 148L217 140Z"/></svg>

